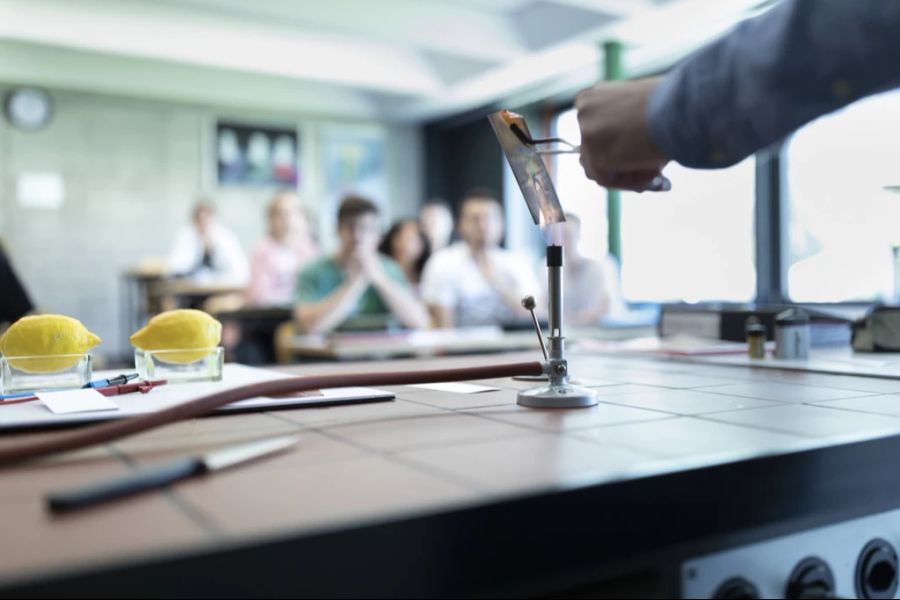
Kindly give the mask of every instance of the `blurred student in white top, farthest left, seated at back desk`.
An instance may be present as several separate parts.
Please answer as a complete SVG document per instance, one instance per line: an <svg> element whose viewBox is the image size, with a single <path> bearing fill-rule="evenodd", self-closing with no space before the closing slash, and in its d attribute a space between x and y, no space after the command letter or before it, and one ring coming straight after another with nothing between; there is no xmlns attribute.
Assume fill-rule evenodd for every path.
<svg viewBox="0 0 900 600"><path fill-rule="evenodd" d="M194 207L192 222L175 238L168 270L197 283L240 287L247 284L250 268L237 236L220 225L211 204Z"/></svg>

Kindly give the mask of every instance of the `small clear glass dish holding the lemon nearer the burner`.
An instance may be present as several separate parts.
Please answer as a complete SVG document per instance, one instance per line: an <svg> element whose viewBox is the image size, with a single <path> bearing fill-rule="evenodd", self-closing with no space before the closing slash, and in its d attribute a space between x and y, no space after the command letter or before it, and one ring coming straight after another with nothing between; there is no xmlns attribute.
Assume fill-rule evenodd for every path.
<svg viewBox="0 0 900 600"><path fill-rule="evenodd" d="M169 383L221 381L225 349L210 348L134 350L134 367L141 379L165 379Z"/></svg>

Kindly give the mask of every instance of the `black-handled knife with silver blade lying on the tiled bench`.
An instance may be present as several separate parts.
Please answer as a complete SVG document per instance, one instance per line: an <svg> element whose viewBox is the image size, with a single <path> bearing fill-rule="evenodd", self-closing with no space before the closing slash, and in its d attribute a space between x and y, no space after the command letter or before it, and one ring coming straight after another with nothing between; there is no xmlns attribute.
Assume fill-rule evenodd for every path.
<svg viewBox="0 0 900 600"><path fill-rule="evenodd" d="M62 512L131 496L188 477L213 473L275 452L281 452L296 444L299 439L298 436L270 438L215 450L202 456L181 458L141 469L122 477L89 484L82 488L51 493L47 496L47 506L54 512Z"/></svg>

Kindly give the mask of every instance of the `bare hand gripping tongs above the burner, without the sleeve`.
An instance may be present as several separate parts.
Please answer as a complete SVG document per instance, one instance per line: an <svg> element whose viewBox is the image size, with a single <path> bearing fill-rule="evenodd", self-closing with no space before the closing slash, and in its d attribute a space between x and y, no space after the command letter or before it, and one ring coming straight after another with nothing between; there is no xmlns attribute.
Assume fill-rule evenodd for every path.
<svg viewBox="0 0 900 600"><path fill-rule="evenodd" d="M658 83L659 78L607 82L578 94L581 165L589 179L640 192L661 177L668 159L650 138L646 118Z"/></svg>

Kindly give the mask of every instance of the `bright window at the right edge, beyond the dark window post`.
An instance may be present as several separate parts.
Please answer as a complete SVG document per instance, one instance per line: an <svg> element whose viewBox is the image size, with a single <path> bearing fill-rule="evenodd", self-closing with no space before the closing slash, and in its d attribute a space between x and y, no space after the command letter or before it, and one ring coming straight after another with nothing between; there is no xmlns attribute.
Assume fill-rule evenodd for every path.
<svg viewBox="0 0 900 600"><path fill-rule="evenodd" d="M795 302L892 299L900 245L900 93L804 127L786 152L787 293Z"/></svg>

